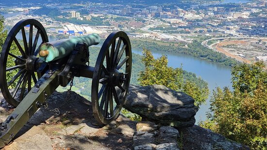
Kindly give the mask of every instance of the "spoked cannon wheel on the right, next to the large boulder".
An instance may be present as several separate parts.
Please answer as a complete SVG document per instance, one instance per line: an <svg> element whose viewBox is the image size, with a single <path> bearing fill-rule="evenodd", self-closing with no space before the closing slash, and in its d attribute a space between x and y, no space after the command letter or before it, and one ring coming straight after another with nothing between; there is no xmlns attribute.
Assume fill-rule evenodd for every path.
<svg viewBox="0 0 267 150"><path fill-rule="evenodd" d="M117 119L128 92L131 70L129 37L123 31L111 33L100 49L92 80L93 113L101 124Z"/></svg>

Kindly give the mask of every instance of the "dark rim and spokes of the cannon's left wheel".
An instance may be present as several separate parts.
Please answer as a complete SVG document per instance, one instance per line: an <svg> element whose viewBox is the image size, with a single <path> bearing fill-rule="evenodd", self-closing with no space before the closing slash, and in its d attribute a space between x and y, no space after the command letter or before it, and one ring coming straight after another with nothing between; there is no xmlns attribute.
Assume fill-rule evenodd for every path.
<svg viewBox="0 0 267 150"><path fill-rule="evenodd" d="M28 25L30 25L30 28L29 28L29 37L27 38L24 27L26 27ZM33 27L35 29L37 29L35 38L33 38ZM19 42L17 41L17 38L16 38L17 34L20 31L22 33L22 38L23 38L23 44L22 45L19 44ZM19 76L16 76L17 75L16 74L14 77L19 78L17 85L22 84L21 88L20 88L20 85L18 86L18 90L20 88L20 90L23 91L22 98L21 98L21 93L19 95L19 99L15 98L15 96L17 96L16 94L17 94L18 90L16 91L15 94L14 94L14 91L17 89L17 85L16 85L13 93L11 94L11 91L9 89L10 83L7 81L7 72L12 71L12 70L9 70L10 68L6 68L8 56L12 56L12 55L10 55L11 53L9 53L10 48L12 46L12 43L15 42L15 44L16 44L16 46L19 49L19 52L21 54L21 56L17 56L17 57L21 58L22 60L27 60L29 57L31 57L33 55L37 56L38 48L39 48L39 47L37 47L37 42L38 42L39 37L41 37L42 43L48 42L48 36L47 36L47 33L46 33L44 27L42 26L42 24L35 19L24 19L24 20L19 21L12 28L12 30L10 30L10 32L9 32L9 34L5 40L5 43L3 45L2 52L0 55L0 65L1 65L1 68L0 68L0 76L1 76L0 77L0 89L1 89L1 92L3 94L3 97L7 101L7 103L10 105L13 105L15 107L17 105L19 105L19 103L23 100L23 97L25 96L24 92L26 89L23 90L23 87L26 88L26 86L24 86L24 84L28 84L27 90L29 91L32 88L32 86L31 86L32 78L33 78L33 82L36 83L38 77L36 78L36 75L34 74L34 72L26 70L26 61L24 63L25 65L22 65L23 63L19 64L19 65L21 65L21 67L18 67L18 68L20 68L20 70L18 72L21 71L23 73L21 73L21 75L19 75ZM27 43L27 41L29 43ZM22 48L22 46L24 49ZM23 54L23 52L24 52L24 54ZM16 57L16 55L14 55L12 57ZM16 60L18 60L19 58L16 58ZM16 66L17 66L17 64L16 64ZM22 68L24 68L25 70L23 71ZM13 70L15 70L15 69L13 69ZM27 77L25 77L25 76L27 76ZM12 77L12 79L14 77ZM17 78L15 80L17 80Z"/></svg>

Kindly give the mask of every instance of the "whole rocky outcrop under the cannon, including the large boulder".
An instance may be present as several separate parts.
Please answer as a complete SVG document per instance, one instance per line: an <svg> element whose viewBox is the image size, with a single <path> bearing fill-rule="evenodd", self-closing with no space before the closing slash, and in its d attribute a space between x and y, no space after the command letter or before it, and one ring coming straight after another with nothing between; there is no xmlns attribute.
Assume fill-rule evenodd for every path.
<svg viewBox="0 0 267 150"><path fill-rule="evenodd" d="M71 92L70 100L59 109L60 115L56 115L52 110L63 104L66 96L67 92L54 92L48 99L49 109L40 108L3 150L249 150L222 135L192 126L195 121L182 125L192 127L178 129L162 126L164 123L153 118L151 120L155 122L136 122L120 115L117 120L101 126L94 119L91 103L75 92ZM133 97L132 103L130 97ZM143 101L138 101L138 97ZM162 86L131 86L127 103L133 107L142 106L142 111L149 106L151 112L160 112L162 105L165 110L179 112L179 115L173 115L180 116L179 120L184 122L194 120L197 110L191 97ZM155 107L152 104L156 104ZM0 94L0 122L13 109ZM177 109L184 109L185 114ZM148 118L151 116L148 114Z"/></svg>

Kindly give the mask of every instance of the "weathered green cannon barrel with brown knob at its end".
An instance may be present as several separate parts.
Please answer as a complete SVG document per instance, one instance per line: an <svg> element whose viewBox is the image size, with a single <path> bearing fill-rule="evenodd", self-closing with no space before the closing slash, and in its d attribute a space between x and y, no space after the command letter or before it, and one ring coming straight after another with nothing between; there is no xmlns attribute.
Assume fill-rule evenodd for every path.
<svg viewBox="0 0 267 150"><path fill-rule="evenodd" d="M68 56L74 50L77 43L86 43L88 46L98 45L100 36L93 33L87 36L62 39L53 42L44 43L39 48L39 55L42 60L50 62Z"/></svg>

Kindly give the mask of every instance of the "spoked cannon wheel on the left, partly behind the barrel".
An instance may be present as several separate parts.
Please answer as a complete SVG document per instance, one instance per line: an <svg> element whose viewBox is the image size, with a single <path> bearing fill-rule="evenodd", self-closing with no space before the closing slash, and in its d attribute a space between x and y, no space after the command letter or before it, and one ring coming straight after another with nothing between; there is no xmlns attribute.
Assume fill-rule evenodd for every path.
<svg viewBox="0 0 267 150"><path fill-rule="evenodd" d="M24 27L29 30L29 37L26 37ZM19 35L22 36L22 42L17 40ZM38 40L39 37L41 40ZM27 91L31 90L33 82L37 82L34 66L29 64L33 64L31 61L36 60L39 49L37 45L40 42L41 44L48 42L48 36L42 24L34 19L19 21L5 40L0 55L0 89L10 105L16 107ZM18 51L14 50L14 46L17 46Z"/></svg>

